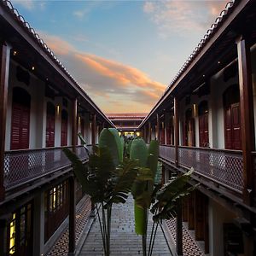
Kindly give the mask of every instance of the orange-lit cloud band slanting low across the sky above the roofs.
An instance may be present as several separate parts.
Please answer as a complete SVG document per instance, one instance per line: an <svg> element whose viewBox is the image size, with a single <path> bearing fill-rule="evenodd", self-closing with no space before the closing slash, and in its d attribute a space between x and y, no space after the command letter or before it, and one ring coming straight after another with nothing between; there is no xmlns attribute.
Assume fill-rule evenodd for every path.
<svg viewBox="0 0 256 256"><path fill-rule="evenodd" d="M139 112L149 111L166 90L164 84L135 67L79 51L67 41L45 33L44 40L105 112L130 112L135 111L135 106Z"/></svg>

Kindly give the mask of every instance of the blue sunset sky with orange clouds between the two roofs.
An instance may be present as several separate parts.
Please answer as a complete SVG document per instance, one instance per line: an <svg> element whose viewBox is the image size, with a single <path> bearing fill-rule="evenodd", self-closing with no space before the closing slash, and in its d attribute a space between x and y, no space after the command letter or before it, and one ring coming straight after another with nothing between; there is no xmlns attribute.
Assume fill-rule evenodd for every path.
<svg viewBox="0 0 256 256"><path fill-rule="evenodd" d="M226 0L11 0L104 113L148 113Z"/></svg>

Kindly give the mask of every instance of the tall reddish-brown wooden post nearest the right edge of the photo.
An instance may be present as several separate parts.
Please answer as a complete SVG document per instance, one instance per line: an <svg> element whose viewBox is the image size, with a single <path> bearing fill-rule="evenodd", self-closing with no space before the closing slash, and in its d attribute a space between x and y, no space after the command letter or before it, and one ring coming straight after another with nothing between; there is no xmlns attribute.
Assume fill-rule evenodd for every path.
<svg viewBox="0 0 256 256"><path fill-rule="evenodd" d="M241 109L241 149L243 162L243 201L252 205L254 194L254 168L251 152L255 148L253 121L253 84L250 48L247 40L236 40L239 71Z"/></svg>

